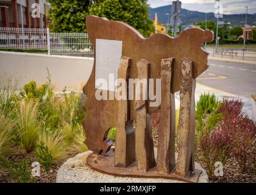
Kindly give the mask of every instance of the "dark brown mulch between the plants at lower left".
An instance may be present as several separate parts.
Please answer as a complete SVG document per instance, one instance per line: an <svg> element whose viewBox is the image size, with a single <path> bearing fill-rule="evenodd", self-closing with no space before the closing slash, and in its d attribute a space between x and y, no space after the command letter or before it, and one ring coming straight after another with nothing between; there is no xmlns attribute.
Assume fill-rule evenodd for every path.
<svg viewBox="0 0 256 195"><path fill-rule="evenodd" d="M77 152L71 151L69 152L68 156L61 160L58 161L57 163L54 163L52 165L50 173L46 174L46 172L43 171L43 168L41 167L40 169L40 177L34 177L34 182L35 183L55 183L56 182L56 177L57 177L57 171L59 170L60 166L68 160L68 158L74 157L77 154ZM29 161L29 165L32 165L32 162L38 161L37 157L35 157L34 154L22 154L20 149L18 149L15 153L10 155L8 159L14 164L18 165L24 158L27 157L27 160ZM31 167L29 167L29 171L31 171ZM0 168L0 183L8 183L10 182L9 179L9 171L6 169L1 169Z"/></svg>

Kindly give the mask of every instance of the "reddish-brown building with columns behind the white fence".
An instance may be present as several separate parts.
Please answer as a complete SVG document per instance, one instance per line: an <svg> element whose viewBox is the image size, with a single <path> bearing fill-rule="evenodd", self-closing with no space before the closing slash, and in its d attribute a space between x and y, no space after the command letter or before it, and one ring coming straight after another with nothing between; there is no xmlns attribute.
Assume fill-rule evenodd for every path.
<svg viewBox="0 0 256 195"><path fill-rule="evenodd" d="M39 4L40 17L33 18L34 3ZM0 0L0 27L47 27L49 4L43 0Z"/></svg>

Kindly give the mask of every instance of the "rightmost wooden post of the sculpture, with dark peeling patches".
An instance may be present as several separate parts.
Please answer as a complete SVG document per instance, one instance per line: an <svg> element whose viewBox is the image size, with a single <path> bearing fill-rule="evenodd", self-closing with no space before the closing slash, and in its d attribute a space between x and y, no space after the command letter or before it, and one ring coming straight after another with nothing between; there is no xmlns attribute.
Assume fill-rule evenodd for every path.
<svg viewBox="0 0 256 195"><path fill-rule="evenodd" d="M189 171L194 171L195 88L196 80L193 79L193 62L183 57L176 166L176 174L182 177L186 177Z"/></svg>

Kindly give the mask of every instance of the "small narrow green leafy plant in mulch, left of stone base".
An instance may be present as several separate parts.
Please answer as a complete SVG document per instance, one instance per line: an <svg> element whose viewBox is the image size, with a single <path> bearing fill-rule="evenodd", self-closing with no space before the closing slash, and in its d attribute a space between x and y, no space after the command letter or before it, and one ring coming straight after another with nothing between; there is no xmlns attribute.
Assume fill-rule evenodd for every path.
<svg viewBox="0 0 256 195"><path fill-rule="evenodd" d="M39 163L43 166L44 171L49 173L52 166L52 155L50 154L48 147L45 146L43 142L37 144L35 155L37 155Z"/></svg>

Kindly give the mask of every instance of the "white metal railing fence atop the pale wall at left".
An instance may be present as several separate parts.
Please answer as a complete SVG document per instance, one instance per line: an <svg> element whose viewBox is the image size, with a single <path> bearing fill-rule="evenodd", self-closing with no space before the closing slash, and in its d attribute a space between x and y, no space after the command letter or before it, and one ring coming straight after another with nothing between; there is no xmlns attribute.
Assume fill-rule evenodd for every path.
<svg viewBox="0 0 256 195"><path fill-rule="evenodd" d="M39 49L48 54L93 54L85 33L51 33L49 29L0 27L0 48Z"/></svg>

